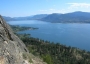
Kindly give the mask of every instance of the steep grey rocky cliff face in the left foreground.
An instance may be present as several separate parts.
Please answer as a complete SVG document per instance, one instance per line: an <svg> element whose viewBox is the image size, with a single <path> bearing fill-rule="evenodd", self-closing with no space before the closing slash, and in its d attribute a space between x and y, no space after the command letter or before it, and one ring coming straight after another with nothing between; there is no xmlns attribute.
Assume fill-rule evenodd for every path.
<svg viewBox="0 0 90 64"><path fill-rule="evenodd" d="M0 64L30 64L30 61L37 64L35 58L30 60L29 54L23 42L0 16ZM41 61L39 64L44 63Z"/></svg>

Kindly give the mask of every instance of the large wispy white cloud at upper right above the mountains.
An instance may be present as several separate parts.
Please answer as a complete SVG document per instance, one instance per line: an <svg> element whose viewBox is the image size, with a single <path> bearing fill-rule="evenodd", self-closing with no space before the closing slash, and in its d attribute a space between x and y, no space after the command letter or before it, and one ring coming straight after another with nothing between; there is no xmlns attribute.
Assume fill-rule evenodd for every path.
<svg viewBox="0 0 90 64"><path fill-rule="evenodd" d="M68 9L73 9L73 8L90 8L90 4L88 3L67 3L69 4Z"/></svg>

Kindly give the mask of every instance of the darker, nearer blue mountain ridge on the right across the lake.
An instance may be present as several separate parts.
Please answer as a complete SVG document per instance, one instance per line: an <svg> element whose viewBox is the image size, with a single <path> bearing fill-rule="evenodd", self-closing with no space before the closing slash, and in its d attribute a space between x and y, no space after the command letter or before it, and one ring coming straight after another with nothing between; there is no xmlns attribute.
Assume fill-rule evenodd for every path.
<svg viewBox="0 0 90 64"><path fill-rule="evenodd" d="M52 23L90 23L90 13L78 11L66 14L50 14L41 20Z"/></svg>

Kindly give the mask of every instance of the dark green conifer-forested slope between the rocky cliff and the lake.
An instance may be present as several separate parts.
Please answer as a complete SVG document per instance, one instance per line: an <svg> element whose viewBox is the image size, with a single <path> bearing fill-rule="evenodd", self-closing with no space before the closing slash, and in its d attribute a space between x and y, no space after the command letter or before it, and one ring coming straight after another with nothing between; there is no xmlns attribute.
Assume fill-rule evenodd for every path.
<svg viewBox="0 0 90 64"><path fill-rule="evenodd" d="M17 34L30 53L40 56L47 64L90 64L90 52L59 43Z"/></svg>

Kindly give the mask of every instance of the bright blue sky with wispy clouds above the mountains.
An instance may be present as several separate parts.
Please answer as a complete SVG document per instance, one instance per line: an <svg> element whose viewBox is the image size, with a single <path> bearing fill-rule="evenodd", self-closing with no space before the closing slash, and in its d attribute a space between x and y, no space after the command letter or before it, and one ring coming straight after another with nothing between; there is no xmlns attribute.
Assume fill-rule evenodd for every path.
<svg viewBox="0 0 90 64"><path fill-rule="evenodd" d="M23 17L36 14L90 12L90 0L0 0L0 14Z"/></svg>

